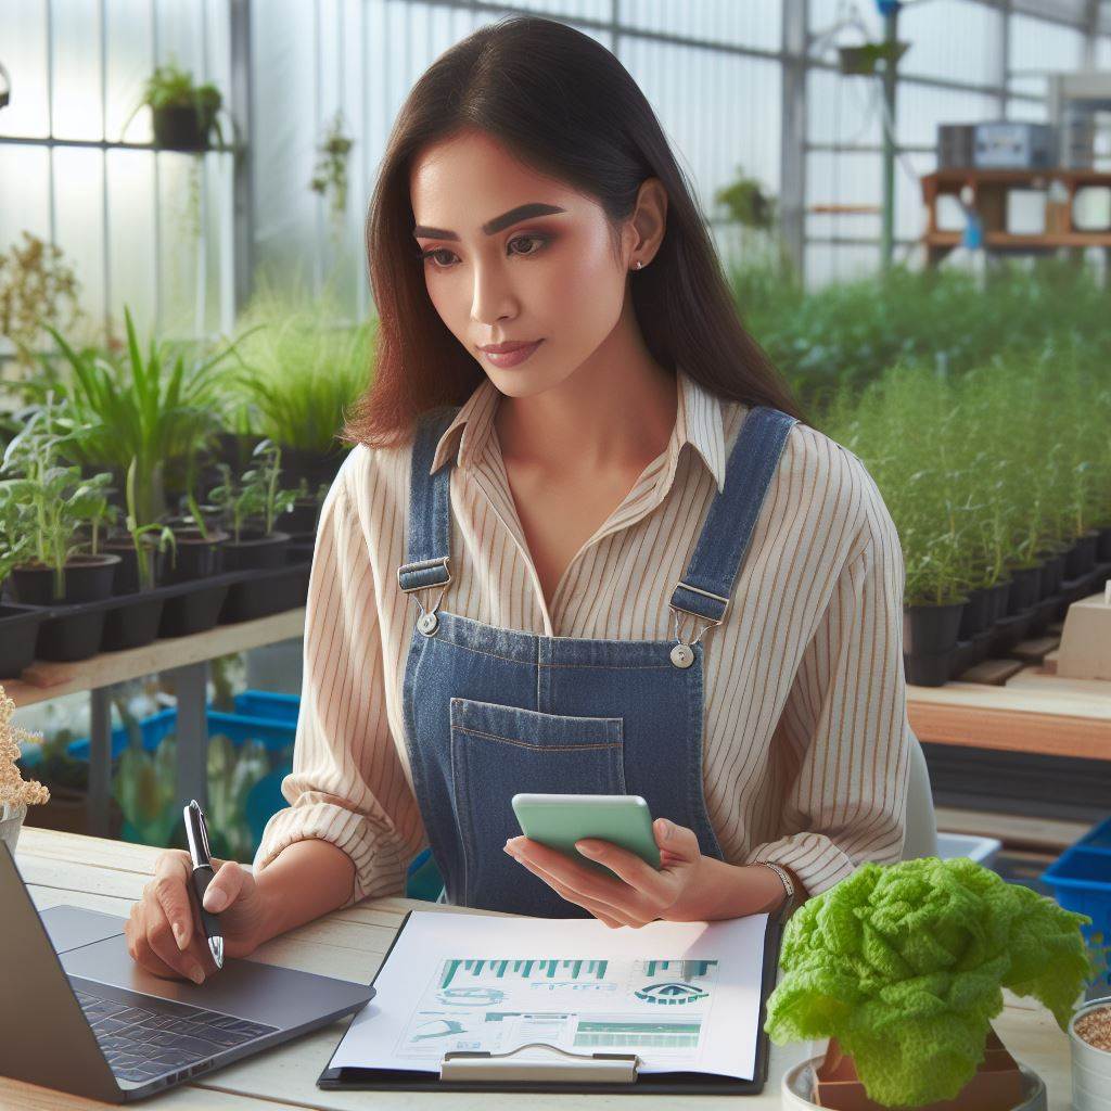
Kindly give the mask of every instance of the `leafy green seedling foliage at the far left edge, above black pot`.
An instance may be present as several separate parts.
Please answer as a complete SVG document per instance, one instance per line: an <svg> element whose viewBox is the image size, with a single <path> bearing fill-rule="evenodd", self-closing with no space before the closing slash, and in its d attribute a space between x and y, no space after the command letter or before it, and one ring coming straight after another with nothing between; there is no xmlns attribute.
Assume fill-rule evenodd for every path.
<svg viewBox="0 0 1111 1111"><path fill-rule="evenodd" d="M3 471L14 477L0 482L2 497L14 504L9 528L29 538L27 565L53 569L56 599L66 593L66 564L86 547L80 530L102 512L111 484L110 474L84 479L80 468L61 463L59 453L68 440L58 428L53 399L48 399L8 444Z"/></svg>

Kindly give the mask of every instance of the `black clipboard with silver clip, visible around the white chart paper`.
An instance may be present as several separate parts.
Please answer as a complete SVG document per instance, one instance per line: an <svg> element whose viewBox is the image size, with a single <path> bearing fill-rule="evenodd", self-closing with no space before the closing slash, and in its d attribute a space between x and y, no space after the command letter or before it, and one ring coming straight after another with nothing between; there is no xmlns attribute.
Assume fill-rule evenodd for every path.
<svg viewBox="0 0 1111 1111"><path fill-rule="evenodd" d="M760 975L760 1012L753 1077L724 1077L709 1072L639 1071L635 1053L573 1053L547 1042L530 1042L504 1053L453 1051L443 1054L439 1075L427 1069L331 1068L317 1078L317 1087L349 1091L413 1092L591 1092L597 1094L703 1094L757 1095L768 1080L770 1039L764 1031L768 997L774 990L779 970L783 925L790 915L789 904L769 915ZM406 913L401 928L382 958L379 973L401 937L412 911ZM371 987L378 980L378 973ZM523 1049L541 1051L544 1060L522 1059Z"/></svg>

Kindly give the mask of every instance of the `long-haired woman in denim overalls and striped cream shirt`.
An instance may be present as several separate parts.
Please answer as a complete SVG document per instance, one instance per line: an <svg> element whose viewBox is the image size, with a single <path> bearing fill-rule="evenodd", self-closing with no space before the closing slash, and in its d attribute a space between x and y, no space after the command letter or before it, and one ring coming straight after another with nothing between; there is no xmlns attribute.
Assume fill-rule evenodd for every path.
<svg viewBox="0 0 1111 1111"><path fill-rule="evenodd" d="M738 321L617 59L538 18L447 51L390 137L368 252L377 378L321 514L292 805L253 877L222 862L209 888L228 954L402 893L426 845L449 902L611 927L771 911L899 859L895 530ZM516 791L643 794L663 868L520 837ZM160 858L128 937L200 981L187 872Z"/></svg>

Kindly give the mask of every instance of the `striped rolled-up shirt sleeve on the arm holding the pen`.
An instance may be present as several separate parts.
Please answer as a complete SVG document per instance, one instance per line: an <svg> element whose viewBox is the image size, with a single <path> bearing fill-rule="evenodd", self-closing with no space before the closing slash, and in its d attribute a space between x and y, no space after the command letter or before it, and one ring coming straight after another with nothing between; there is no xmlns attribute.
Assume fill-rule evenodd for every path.
<svg viewBox="0 0 1111 1111"><path fill-rule="evenodd" d="M294 841L330 841L354 863L349 907L403 894L409 861L427 841L387 719L373 572L346 471L317 531L293 767L281 785L290 805L267 823L253 867Z"/></svg>

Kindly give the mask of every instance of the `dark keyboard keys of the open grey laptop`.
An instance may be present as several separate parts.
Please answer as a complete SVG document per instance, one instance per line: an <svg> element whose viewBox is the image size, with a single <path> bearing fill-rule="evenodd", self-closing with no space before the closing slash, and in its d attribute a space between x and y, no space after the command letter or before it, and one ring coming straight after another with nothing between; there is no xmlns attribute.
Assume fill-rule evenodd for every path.
<svg viewBox="0 0 1111 1111"><path fill-rule="evenodd" d="M171 1000L160 999L152 1011L74 994L112 1072L124 1080L153 1080L278 1029Z"/></svg>

